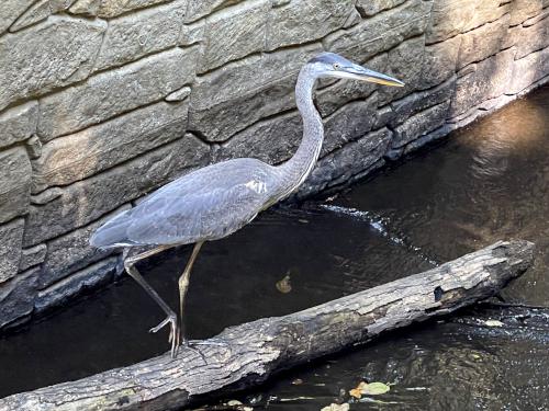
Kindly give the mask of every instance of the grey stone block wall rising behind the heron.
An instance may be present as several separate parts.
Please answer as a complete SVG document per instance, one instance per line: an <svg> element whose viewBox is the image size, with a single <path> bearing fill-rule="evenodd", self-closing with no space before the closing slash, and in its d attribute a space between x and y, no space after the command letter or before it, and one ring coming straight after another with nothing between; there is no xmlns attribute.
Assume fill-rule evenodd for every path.
<svg viewBox="0 0 549 411"><path fill-rule="evenodd" d="M2 0L0 328L113 277L102 221L198 167L301 138L321 50L406 82L322 82L300 196L360 178L547 80L549 0Z"/></svg>

